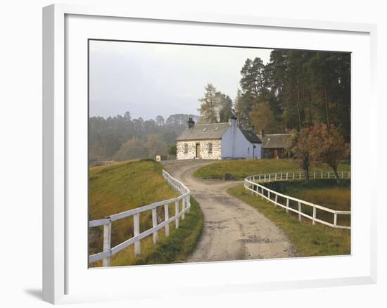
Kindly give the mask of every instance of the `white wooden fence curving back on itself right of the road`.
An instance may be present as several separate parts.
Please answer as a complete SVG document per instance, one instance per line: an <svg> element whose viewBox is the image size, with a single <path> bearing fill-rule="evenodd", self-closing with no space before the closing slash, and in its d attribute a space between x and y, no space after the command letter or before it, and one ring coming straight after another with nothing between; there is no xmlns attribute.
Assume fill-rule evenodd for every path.
<svg viewBox="0 0 387 308"><path fill-rule="evenodd" d="M339 177L341 179L350 179L350 172L339 172ZM335 177L333 172L312 172L310 173L310 179L333 179ZM341 228L341 229L350 229L350 226L340 226L337 224L337 216L338 215L350 215L350 211L338 211L338 210L331 210L328 207L323 207L321 205L315 205L313 203L300 200L297 198L293 198L289 195L284 195L283 193L278 193L277 191L273 191L272 189L269 189L263 185L260 185L258 183L260 182L268 182L268 181L289 181L289 180L298 180L298 179L305 179L305 172L277 172L277 173L270 173L270 174L257 174L257 175L251 175L250 177L246 177L244 180L244 186L248 191L251 191L252 193L255 193L256 195L260 195L261 198L265 198L266 200L269 200L271 203L274 203L274 205L279 205L280 207L284 207L286 209L286 212L289 211L295 212L298 214L298 220L301 222L302 217L306 217L307 219L312 220L312 224L315 224L316 222L319 222L320 224L325 224L326 226L331 226L334 228ZM284 204L282 204L279 200L279 198L283 199ZM290 207L290 202L296 202L298 205L298 210L293 209ZM312 207L312 216L306 214L303 212L303 207ZM329 212L334 215L333 222L326 222L322 219L318 219L316 217L317 210L322 210L324 212Z"/></svg>

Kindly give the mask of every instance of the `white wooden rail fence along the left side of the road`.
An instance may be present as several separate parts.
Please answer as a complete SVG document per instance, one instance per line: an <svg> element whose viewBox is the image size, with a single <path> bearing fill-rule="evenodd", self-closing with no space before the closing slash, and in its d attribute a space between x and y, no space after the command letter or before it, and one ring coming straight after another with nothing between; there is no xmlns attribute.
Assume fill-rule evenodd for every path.
<svg viewBox="0 0 387 308"><path fill-rule="evenodd" d="M169 236L170 233L170 223L175 222L176 228L179 228L179 219L182 217L184 219L184 214L189 213L191 208L191 193L189 189L182 184L182 182L177 181L165 170L163 170L164 179L175 189L179 191L180 195L177 198L163 200L151 205L145 205L143 207L137 207L133 210L127 210L125 212L120 212L118 214L113 214L103 219L91 220L89 222L89 228L96 226L103 226L103 251L89 256L89 262L96 262L99 260L102 261L103 267L110 266L110 257L115 255L117 252L127 248L129 245L134 244L134 253L139 255L141 253L141 239L146 238L147 236L153 235L153 243L157 243L158 240L158 230L165 228L165 236ZM182 207L180 210L179 201L182 200ZM170 217L169 205L170 203L175 204L175 215ZM164 221L158 224L157 220L157 208L162 207L164 209ZM143 212L152 211L152 228L147 230L140 230L140 214ZM124 242L116 245L111 248L111 229L112 223L116 220L123 219L125 217L133 216L133 229L134 235L132 238L128 238Z"/></svg>

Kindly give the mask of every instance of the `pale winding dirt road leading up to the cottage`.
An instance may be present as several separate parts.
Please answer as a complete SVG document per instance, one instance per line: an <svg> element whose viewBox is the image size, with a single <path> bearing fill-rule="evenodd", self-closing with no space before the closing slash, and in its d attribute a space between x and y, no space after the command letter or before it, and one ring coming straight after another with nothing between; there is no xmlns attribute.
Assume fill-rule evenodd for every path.
<svg viewBox="0 0 387 308"><path fill-rule="evenodd" d="M203 211L203 232L187 262L293 257L291 243L269 219L227 188L241 182L200 180L192 173L208 162L175 162L167 172L182 181Z"/></svg>

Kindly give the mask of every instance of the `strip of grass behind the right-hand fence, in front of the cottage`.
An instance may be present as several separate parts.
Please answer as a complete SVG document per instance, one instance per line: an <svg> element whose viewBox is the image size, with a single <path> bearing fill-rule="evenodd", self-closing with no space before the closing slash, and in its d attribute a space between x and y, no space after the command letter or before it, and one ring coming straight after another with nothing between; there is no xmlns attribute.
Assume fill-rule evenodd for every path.
<svg viewBox="0 0 387 308"><path fill-rule="evenodd" d="M343 162L338 166L340 171L350 171L350 165ZM312 171L332 171L326 165L312 168ZM244 179L253 174L264 174L272 172L294 172L302 171L296 160L293 159L262 159L262 160L223 160L205 165L194 172L194 177L200 179L224 179L229 174L234 179ZM229 177L230 177L229 176Z"/></svg>

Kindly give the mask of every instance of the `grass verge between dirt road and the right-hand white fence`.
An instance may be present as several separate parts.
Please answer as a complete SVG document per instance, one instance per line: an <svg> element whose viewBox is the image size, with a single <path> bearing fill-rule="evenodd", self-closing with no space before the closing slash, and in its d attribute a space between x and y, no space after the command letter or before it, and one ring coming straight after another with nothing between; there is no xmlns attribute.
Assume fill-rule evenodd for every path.
<svg viewBox="0 0 387 308"><path fill-rule="evenodd" d="M284 208L262 200L246 191L243 185L229 188L228 193L243 200L279 226L293 244L298 257L349 255L350 230L334 229L323 224L311 224L309 219L298 222L295 215L287 214Z"/></svg>

